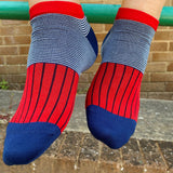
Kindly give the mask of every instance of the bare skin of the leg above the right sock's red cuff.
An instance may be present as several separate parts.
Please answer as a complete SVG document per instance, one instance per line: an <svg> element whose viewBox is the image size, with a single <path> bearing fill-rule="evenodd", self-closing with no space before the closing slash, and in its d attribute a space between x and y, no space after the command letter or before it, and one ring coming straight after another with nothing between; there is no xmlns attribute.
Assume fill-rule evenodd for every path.
<svg viewBox="0 0 173 173"><path fill-rule="evenodd" d="M123 0L122 8L135 9L159 19L165 0Z"/></svg>

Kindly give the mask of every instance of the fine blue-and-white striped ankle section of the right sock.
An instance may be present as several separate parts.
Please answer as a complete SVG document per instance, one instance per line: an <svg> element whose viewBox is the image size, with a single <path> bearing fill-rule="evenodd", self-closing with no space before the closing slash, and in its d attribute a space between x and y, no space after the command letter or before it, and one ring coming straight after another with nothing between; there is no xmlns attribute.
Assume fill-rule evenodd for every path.
<svg viewBox="0 0 173 173"><path fill-rule="evenodd" d="M117 19L102 46L102 63L123 64L144 74L155 30L129 19Z"/></svg>

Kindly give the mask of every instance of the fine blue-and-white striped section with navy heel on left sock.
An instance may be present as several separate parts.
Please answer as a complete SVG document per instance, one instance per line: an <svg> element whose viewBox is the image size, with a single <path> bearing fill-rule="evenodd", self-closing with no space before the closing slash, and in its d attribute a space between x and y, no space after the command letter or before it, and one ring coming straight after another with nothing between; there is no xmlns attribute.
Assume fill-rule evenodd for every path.
<svg viewBox="0 0 173 173"><path fill-rule="evenodd" d="M79 75L90 68L97 55L97 41L86 21L63 15L43 14L31 21L32 35L27 66L54 63Z"/></svg>

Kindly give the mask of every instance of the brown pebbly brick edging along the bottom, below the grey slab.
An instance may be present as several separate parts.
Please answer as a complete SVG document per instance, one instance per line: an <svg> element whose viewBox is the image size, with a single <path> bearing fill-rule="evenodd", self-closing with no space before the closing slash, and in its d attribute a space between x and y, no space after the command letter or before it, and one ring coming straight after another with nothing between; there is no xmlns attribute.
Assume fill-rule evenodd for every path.
<svg viewBox="0 0 173 173"><path fill-rule="evenodd" d="M172 152L172 142L131 138L122 148L112 150L89 133L64 132L61 139L27 165L8 167L0 159L0 172L173 173Z"/></svg>

